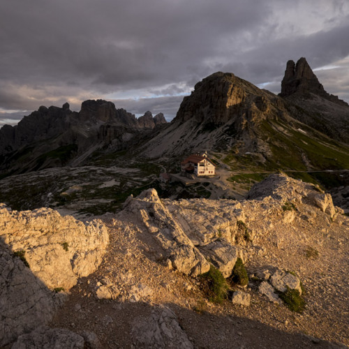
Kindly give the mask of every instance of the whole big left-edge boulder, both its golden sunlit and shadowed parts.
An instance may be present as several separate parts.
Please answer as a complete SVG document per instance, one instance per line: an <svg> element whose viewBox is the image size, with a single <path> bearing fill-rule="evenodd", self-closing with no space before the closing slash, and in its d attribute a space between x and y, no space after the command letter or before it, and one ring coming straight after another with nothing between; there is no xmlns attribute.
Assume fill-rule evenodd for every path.
<svg viewBox="0 0 349 349"><path fill-rule="evenodd" d="M0 346L52 319L80 276L101 264L105 225L52 209L11 211L0 204ZM19 258L20 257L20 258ZM22 348L22 347L20 347Z"/></svg>

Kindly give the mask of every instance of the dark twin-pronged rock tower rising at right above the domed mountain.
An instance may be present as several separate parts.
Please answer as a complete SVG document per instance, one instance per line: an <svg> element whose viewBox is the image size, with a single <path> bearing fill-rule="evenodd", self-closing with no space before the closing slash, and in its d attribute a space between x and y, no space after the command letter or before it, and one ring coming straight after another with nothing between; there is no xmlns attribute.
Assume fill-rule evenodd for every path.
<svg viewBox="0 0 349 349"><path fill-rule="evenodd" d="M280 96L288 97L292 94L316 94L334 103L348 105L337 96L328 94L325 91L318 77L313 73L313 70L311 70L311 67L304 57L300 58L297 64L292 60L288 61L286 64L285 75L281 82Z"/></svg>

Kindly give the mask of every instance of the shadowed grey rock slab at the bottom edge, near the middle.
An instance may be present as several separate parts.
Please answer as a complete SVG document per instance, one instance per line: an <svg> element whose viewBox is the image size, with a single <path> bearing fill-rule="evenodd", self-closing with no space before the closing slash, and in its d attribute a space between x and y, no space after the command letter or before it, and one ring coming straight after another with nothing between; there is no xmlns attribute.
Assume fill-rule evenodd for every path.
<svg viewBox="0 0 349 349"><path fill-rule="evenodd" d="M193 348L177 316L166 306L159 306L149 318L136 322L132 336L135 348Z"/></svg>

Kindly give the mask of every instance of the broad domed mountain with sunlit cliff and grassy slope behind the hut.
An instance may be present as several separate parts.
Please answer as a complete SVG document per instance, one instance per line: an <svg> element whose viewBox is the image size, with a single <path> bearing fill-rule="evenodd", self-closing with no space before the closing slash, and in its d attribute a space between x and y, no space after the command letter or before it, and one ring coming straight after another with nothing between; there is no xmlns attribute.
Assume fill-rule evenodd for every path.
<svg viewBox="0 0 349 349"><path fill-rule="evenodd" d="M349 112L344 103L317 98ZM207 150L224 154L226 164L241 170L348 168L348 146L309 126L309 115L315 119L315 114L232 73L218 72L195 85L170 126L142 154L180 157Z"/></svg>

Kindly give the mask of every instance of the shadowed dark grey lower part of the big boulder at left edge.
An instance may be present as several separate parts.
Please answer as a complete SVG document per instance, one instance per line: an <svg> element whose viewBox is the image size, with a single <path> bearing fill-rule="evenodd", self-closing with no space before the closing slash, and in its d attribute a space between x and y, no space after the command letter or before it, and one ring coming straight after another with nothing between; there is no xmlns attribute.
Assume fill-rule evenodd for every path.
<svg viewBox="0 0 349 349"><path fill-rule="evenodd" d="M62 295L47 289L0 239L0 346L49 322ZM19 347L20 348L20 347Z"/></svg>

